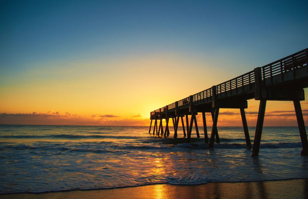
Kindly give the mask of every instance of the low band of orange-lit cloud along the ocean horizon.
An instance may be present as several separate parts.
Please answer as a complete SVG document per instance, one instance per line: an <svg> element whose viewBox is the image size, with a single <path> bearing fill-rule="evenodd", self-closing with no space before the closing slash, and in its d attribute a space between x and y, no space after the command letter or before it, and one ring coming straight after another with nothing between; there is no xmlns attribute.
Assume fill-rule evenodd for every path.
<svg viewBox="0 0 308 199"><path fill-rule="evenodd" d="M238 111L238 110L237 110ZM219 113L218 126L242 126L239 111L224 111ZM308 123L308 109L303 109L304 121ZM247 111L246 119L248 126L256 126L257 111ZM190 120L189 120L190 121ZM202 115L197 115L198 125L202 125ZM164 122L164 120L163 120ZM172 120L169 125L172 126ZM206 113L206 123L212 126L212 117ZM78 115L59 111L47 113L0 113L0 124L37 124L37 125L94 125L94 126L149 126L150 120L144 119L140 114L127 118L117 115ZM186 124L185 124L186 125ZM296 126L295 111L267 111L265 113L264 126Z"/></svg>

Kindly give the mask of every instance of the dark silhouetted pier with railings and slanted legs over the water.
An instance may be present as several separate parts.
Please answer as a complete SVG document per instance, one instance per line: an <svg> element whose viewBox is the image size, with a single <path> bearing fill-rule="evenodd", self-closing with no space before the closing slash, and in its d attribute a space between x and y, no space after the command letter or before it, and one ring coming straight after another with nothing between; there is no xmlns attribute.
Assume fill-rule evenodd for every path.
<svg viewBox="0 0 308 199"><path fill-rule="evenodd" d="M251 148L245 108L247 108L248 99L256 99L260 100L260 106L252 156L257 156L260 148L266 101L293 101L302 141L303 150L301 154L308 155L308 140L300 104L300 101L305 99L303 88L308 87L307 50L304 49L265 66L255 68L253 71L152 111L150 113L149 133L151 133L152 120L155 120L153 135L155 135L156 129L156 135L168 136L170 133L168 122L172 118L174 138L177 137L180 120L186 137L183 120L183 117L185 117L187 141L190 141L193 124L196 127L197 137L200 138L196 115L202 113L205 142L209 142L209 148L213 148L215 137L216 142L219 143L217 131L219 109L238 108L241 111L246 145ZM213 119L210 139L208 139L205 113L211 113ZM189 124L188 115L191 115ZM162 119L166 120L165 131L163 130ZM159 120L159 127L157 127L157 120Z"/></svg>

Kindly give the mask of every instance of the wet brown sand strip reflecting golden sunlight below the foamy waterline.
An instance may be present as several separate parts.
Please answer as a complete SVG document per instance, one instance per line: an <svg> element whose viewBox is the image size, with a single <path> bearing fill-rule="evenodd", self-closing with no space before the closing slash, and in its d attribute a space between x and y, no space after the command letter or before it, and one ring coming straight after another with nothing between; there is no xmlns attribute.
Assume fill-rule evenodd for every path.
<svg viewBox="0 0 308 199"><path fill-rule="evenodd" d="M0 198L308 198L308 179L261 182L210 182L204 185L145 185L117 189L16 193Z"/></svg>

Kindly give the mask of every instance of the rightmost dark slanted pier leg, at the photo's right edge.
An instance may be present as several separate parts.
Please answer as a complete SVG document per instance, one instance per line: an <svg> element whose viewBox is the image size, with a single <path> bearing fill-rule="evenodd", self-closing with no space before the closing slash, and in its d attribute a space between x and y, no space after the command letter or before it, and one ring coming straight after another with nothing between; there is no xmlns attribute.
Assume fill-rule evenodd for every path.
<svg viewBox="0 0 308 199"><path fill-rule="evenodd" d="M295 113L296 113L296 118L297 118L297 123L298 123L299 134L301 136L301 141L302 141L303 150L301 152L301 155L308 156L308 140L307 140L307 134L306 134L306 128L305 128L301 103L299 102L299 100L296 100L296 101L294 100L293 103L294 103L294 108L295 108Z"/></svg>

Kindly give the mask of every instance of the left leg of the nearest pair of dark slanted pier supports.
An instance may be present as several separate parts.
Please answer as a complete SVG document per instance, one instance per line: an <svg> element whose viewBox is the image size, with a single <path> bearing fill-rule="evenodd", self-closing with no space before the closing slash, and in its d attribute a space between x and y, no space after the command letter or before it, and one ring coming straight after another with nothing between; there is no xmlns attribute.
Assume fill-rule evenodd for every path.
<svg viewBox="0 0 308 199"><path fill-rule="evenodd" d="M259 106L258 119L257 119L256 133L254 135L254 141L253 141L253 149L252 149L252 155L251 155L252 157L258 156L259 154L262 127L263 127L263 122L264 122L265 107L266 107L266 100L261 99L260 106Z"/></svg>

